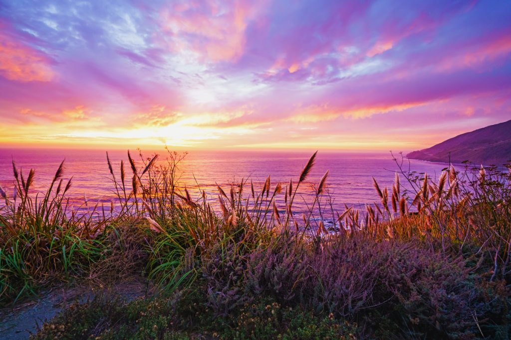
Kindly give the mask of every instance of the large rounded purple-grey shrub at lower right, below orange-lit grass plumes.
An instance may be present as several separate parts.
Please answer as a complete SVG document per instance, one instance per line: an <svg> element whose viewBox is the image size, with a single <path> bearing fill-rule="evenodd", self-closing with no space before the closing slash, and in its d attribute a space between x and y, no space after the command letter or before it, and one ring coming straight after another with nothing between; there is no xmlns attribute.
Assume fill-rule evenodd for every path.
<svg viewBox="0 0 511 340"><path fill-rule="evenodd" d="M360 320L376 311L407 336L481 335L488 310L460 258L413 241L376 242L358 236L323 242L309 256L301 289L317 312Z"/></svg>

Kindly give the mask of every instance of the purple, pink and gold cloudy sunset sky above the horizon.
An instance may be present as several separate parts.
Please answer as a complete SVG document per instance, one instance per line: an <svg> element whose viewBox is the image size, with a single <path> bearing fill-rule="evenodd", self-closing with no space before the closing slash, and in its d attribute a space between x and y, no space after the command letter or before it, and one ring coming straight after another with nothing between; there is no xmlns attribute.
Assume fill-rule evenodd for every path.
<svg viewBox="0 0 511 340"><path fill-rule="evenodd" d="M511 119L511 1L0 2L0 147L421 149Z"/></svg>

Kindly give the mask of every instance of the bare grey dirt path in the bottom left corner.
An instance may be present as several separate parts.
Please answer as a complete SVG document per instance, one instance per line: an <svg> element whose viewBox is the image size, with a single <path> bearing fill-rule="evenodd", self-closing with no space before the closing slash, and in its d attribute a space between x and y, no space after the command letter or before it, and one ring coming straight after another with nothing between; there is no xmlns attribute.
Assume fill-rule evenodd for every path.
<svg viewBox="0 0 511 340"><path fill-rule="evenodd" d="M137 297L147 296L148 285L145 280L132 280L119 282L102 288L106 294L116 294L133 300ZM63 308L75 301L83 303L95 296L96 291L90 285L78 287L54 287L39 293L38 296L26 299L14 306L0 309L0 339L23 340L28 339L31 333L37 331L37 326L50 320Z"/></svg>

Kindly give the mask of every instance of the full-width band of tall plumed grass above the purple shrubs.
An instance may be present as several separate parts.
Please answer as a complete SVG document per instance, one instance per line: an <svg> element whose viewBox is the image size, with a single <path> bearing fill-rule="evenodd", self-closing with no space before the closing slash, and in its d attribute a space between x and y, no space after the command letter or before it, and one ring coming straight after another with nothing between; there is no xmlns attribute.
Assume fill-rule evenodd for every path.
<svg viewBox="0 0 511 340"><path fill-rule="evenodd" d="M107 154L117 210L112 205L106 213L96 204L83 215L68 210L66 193L71 181L65 186L62 182L63 163L41 196L31 192L35 171L29 171L25 179L13 163L15 197L8 197L0 188L5 201L0 208L0 299L15 299L51 280L106 280L111 273L128 277L134 272L145 273L172 292L201 279L202 262L211 259L212 249L219 256L217 264L223 266L229 263L223 257L231 251L228 249L245 261L254 252L274 247L280 238L314 254L333 244L342 251L350 251L349 247L360 251L357 244L367 249L385 248L381 244L389 242L416 244L446 259L472 261L472 271L488 284L510 282L509 167L503 171L466 166L457 171L449 166L433 181L427 174L405 170L403 160L396 160L401 171L392 188L380 187L373 178L379 201L367 205L365 211L347 206L337 211L329 199L326 172L308 202L308 211L295 214L293 202L317 152L297 180L290 179L286 185L272 184L268 176L259 189L248 179L230 188L217 186L216 206L205 192L194 195L179 186L179 164L184 156L168 151L166 160L156 162L158 155L144 158L140 153L140 161L135 161L128 152L132 175L126 174L121 162L117 177ZM277 203L282 196L284 209ZM84 204L89 202L85 199ZM332 268L341 266L338 270L346 278L357 270L325 256L321 260L328 259ZM290 263L293 260L289 258ZM367 264L367 268L371 266ZM321 273L327 278L327 272ZM365 303L365 274L359 274L357 292ZM342 287L349 282L333 280L329 284ZM376 284L370 282L367 287ZM343 294L335 299L344 301ZM337 303L325 299L325 305ZM342 306L341 314L351 308Z"/></svg>

